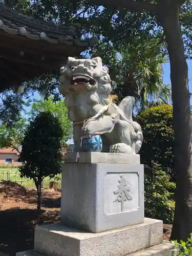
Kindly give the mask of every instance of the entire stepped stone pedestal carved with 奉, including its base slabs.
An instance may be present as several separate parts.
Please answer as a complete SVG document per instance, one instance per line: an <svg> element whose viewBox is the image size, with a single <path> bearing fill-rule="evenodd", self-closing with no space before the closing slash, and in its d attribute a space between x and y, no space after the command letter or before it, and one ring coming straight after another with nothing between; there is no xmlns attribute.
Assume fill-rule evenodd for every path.
<svg viewBox="0 0 192 256"><path fill-rule="evenodd" d="M17 256L174 255L162 221L144 219L138 155L70 153L65 162L61 223L36 226L34 250Z"/></svg>

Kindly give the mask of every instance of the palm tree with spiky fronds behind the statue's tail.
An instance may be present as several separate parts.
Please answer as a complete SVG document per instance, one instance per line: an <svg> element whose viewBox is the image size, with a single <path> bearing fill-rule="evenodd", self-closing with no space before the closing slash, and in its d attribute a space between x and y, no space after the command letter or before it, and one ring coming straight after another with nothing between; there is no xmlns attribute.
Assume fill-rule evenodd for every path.
<svg viewBox="0 0 192 256"><path fill-rule="evenodd" d="M146 42L145 42L146 43ZM170 84L163 82L163 63L167 63L168 57L162 52L153 51L154 46L148 46L143 50L145 52L135 55L130 51L130 47L122 48L119 55L120 59L115 60L115 69L117 67L121 72L114 76L114 91L119 100L130 95L136 99L136 111L141 111L152 102L166 104L171 102ZM132 61L130 56L132 55ZM142 56L139 59L138 56ZM150 57L148 57L150 56ZM128 60L128 61L127 61Z"/></svg>

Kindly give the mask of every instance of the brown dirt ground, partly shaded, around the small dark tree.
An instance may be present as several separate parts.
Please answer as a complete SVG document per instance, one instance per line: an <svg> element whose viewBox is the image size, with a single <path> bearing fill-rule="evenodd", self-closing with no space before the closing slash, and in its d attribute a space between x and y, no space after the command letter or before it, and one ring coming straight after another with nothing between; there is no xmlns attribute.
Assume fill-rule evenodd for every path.
<svg viewBox="0 0 192 256"><path fill-rule="evenodd" d="M60 220L60 191L42 190L42 209L36 210L36 191L27 191L15 182L0 182L0 252L33 248L36 224ZM164 225L164 239L169 240L172 225Z"/></svg>

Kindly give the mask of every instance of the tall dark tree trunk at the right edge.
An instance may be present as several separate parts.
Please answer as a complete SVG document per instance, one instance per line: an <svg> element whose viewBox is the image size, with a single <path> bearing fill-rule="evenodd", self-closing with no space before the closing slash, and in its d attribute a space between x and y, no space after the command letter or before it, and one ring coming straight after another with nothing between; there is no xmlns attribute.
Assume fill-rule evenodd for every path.
<svg viewBox="0 0 192 256"><path fill-rule="evenodd" d="M158 1L158 18L163 26L170 59L175 131L176 208L172 240L186 241L192 232L192 161L188 67L179 22L180 6Z"/></svg>

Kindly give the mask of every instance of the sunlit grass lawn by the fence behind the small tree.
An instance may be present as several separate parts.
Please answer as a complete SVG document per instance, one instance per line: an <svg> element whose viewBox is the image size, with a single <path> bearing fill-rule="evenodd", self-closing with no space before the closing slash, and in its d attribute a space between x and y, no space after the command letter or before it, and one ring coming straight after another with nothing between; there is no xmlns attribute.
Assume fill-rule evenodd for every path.
<svg viewBox="0 0 192 256"><path fill-rule="evenodd" d="M18 168L0 168L0 180L11 180L26 188L35 188L34 181L28 178L20 178ZM49 187L50 179L46 177L43 181L43 187Z"/></svg>

